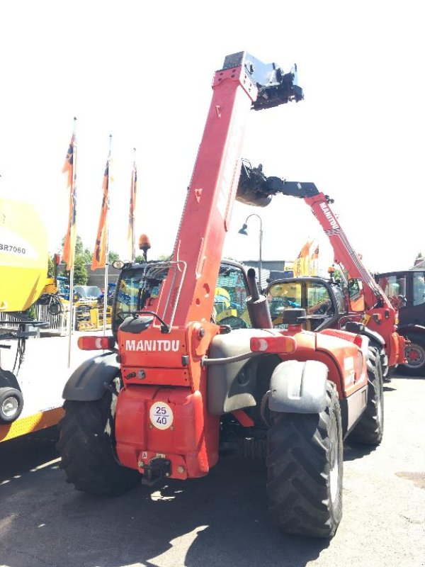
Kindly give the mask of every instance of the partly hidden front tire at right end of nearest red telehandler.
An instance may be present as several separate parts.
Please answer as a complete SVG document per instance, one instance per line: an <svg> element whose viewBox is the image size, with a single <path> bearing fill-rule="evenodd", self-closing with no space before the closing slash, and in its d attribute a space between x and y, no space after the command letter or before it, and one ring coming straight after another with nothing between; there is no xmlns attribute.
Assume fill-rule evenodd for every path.
<svg viewBox="0 0 425 567"><path fill-rule="evenodd" d="M380 356L377 349L369 349L368 401L356 427L349 435L351 441L379 445L384 433L384 388Z"/></svg>

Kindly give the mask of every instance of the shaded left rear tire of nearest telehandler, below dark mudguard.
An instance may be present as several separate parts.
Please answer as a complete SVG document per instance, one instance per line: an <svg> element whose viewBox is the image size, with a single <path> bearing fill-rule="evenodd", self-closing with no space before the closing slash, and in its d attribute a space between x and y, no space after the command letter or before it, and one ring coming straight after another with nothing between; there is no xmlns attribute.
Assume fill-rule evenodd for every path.
<svg viewBox="0 0 425 567"><path fill-rule="evenodd" d="M115 459L111 392L91 402L66 401L64 410L57 449L67 482L89 494L119 495L140 481L140 473Z"/></svg>

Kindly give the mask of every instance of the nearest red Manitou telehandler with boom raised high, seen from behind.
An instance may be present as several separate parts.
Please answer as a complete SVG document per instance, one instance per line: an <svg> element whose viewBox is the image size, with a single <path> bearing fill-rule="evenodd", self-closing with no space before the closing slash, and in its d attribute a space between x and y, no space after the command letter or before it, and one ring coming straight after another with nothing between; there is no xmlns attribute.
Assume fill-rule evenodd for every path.
<svg viewBox="0 0 425 567"><path fill-rule="evenodd" d="M366 337L302 330L305 310L286 311L288 329L273 329L254 270L244 283L249 317L215 321L247 115L300 101L302 90L295 71L246 52L225 58L212 89L171 260L124 273L116 335L80 339L81 348L108 352L82 364L64 388L61 466L77 490L106 495L141 478L205 476L220 449L266 455L278 527L329 538L342 514L343 438L382 439L382 376Z"/></svg>

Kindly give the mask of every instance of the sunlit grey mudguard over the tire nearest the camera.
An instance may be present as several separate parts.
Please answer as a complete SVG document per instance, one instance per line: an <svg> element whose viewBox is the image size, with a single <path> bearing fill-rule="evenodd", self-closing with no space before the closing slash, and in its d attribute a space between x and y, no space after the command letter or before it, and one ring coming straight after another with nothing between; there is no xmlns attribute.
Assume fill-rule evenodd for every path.
<svg viewBox="0 0 425 567"><path fill-rule="evenodd" d="M326 408L328 368L316 360L288 360L274 369L268 407L273 412L319 413Z"/></svg>

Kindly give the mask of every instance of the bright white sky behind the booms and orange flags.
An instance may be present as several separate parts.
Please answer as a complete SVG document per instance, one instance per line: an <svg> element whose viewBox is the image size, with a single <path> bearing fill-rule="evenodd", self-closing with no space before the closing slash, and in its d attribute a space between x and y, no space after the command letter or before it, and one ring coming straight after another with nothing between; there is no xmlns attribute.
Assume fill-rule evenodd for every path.
<svg viewBox="0 0 425 567"><path fill-rule="evenodd" d="M150 257L171 253L186 187L225 55L246 50L285 71L305 100L251 112L244 157L268 175L314 181L335 199L371 271L425 253L425 40L420 1L20 1L0 4L0 191L35 203L50 252L68 216L61 173L77 116L77 233L93 249L113 135L110 247L125 242L132 148L137 234ZM294 259L321 229L303 201L237 203L225 254ZM329 262L320 237L322 263Z"/></svg>

